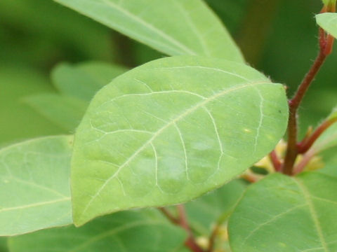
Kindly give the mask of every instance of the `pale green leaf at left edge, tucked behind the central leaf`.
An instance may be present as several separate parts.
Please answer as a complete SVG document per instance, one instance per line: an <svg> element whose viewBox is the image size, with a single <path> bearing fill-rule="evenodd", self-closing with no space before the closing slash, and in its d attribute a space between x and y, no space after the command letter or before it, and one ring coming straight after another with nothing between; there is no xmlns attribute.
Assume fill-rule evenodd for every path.
<svg viewBox="0 0 337 252"><path fill-rule="evenodd" d="M72 137L44 137L0 150L0 236L72 223Z"/></svg>

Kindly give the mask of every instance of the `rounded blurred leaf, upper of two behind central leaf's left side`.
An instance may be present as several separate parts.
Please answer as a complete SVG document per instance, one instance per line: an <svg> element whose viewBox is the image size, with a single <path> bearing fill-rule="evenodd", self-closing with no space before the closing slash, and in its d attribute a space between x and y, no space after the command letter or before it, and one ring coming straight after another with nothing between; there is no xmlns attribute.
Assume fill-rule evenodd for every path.
<svg viewBox="0 0 337 252"><path fill-rule="evenodd" d="M95 92L125 71L122 66L102 62L77 65L62 63L53 69L51 77L63 94L90 101Z"/></svg>

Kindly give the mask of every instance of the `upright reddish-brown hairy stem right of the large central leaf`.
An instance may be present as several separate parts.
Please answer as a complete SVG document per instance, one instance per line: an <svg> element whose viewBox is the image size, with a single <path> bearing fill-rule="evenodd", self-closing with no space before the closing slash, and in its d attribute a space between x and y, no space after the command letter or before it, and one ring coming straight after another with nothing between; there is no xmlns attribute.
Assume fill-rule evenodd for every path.
<svg viewBox="0 0 337 252"><path fill-rule="evenodd" d="M329 36L328 36L329 37ZM305 75L302 83L298 87L296 94L289 101L289 124L288 124L288 146L286 149L286 158L282 171L284 174L291 175L293 173L293 164L298 155L297 146L297 112L300 102L302 102L305 92L307 92L312 80L314 80L319 69L326 59L326 52L331 52L332 41L326 38L323 29L319 29L319 54L312 64L310 70Z"/></svg>

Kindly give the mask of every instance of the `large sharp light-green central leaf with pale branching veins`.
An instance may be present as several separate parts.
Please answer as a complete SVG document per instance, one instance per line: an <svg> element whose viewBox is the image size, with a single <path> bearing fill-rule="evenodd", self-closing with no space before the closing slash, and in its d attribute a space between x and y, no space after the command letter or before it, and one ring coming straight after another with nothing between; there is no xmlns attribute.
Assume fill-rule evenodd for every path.
<svg viewBox="0 0 337 252"><path fill-rule="evenodd" d="M287 118L284 87L244 64L180 56L128 71L78 127L74 222L218 188L275 147Z"/></svg>

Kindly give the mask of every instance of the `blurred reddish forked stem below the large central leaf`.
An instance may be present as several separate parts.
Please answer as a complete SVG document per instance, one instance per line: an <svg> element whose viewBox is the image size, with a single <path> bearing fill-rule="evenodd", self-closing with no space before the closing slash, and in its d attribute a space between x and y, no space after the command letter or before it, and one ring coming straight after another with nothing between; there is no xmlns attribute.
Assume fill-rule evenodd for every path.
<svg viewBox="0 0 337 252"><path fill-rule="evenodd" d="M197 244L197 242L194 239L192 230L190 229L190 225L187 222L187 216L185 212L185 207L183 205L178 205L178 218L174 217L169 211L164 209L164 207L159 207L159 211L161 211L164 216L166 216L171 223L179 225L181 228L185 229L187 231L188 237L185 241L185 246L187 248L190 248L190 251L193 252L204 252L202 248Z"/></svg>

